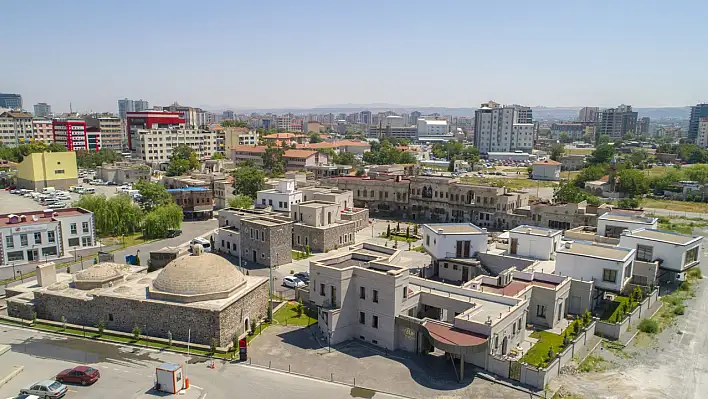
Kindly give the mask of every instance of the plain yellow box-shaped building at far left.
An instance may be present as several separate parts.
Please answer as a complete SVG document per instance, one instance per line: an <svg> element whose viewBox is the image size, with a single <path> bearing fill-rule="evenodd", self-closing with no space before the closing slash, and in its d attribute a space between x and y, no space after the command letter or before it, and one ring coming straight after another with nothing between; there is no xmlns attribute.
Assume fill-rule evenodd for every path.
<svg viewBox="0 0 708 399"><path fill-rule="evenodd" d="M45 187L67 190L78 184L76 153L36 152L17 165L17 187L39 191Z"/></svg>

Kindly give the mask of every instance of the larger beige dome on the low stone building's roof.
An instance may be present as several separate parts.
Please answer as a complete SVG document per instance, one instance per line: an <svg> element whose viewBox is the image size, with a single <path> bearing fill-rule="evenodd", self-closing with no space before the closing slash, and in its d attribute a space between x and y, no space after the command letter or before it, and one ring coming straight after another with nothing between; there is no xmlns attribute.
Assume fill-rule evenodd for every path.
<svg viewBox="0 0 708 399"><path fill-rule="evenodd" d="M203 296L230 293L244 282L243 274L229 261L204 253L199 256L182 256L168 263L152 286L166 294Z"/></svg>

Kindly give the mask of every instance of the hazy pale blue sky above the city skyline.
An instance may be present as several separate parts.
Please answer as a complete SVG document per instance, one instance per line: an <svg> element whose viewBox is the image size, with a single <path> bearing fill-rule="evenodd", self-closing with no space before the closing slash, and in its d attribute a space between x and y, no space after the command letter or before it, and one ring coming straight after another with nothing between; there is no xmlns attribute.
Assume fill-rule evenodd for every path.
<svg viewBox="0 0 708 399"><path fill-rule="evenodd" d="M7 1L0 92L151 105L683 106L708 1Z"/></svg>

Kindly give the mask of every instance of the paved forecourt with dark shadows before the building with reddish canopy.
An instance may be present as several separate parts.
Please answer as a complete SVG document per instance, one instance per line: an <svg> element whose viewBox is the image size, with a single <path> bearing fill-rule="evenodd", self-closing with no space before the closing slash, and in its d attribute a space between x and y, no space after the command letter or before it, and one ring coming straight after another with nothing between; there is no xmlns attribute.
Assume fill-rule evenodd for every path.
<svg viewBox="0 0 708 399"><path fill-rule="evenodd" d="M268 327L255 338L248 354L253 364L353 384L415 398L529 398L529 394L470 375L456 381L449 360L435 356L384 353L358 341L332 347L310 329ZM472 370L469 366L466 370Z"/></svg>

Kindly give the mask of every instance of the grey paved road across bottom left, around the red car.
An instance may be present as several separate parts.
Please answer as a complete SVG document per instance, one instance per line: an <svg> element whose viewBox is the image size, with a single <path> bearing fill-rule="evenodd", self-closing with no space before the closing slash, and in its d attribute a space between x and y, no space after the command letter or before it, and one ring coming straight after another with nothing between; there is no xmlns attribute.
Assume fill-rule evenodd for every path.
<svg viewBox="0 0 708 399"><path fill-rule="evenodd" d="M344 399L360 397L396 398L373 391L352 391L351 387L311 378L273 372L241 364L217 362L216 369L206 367L202 359L190 359L174 353L120 347L100 342L58 337L13 327L0 326L0 344L12 350L0 355L0 378L14 365L25 370L0 387L0 397L15 395L23 387L77 364L88 364L101 371L93 386L70 386L67 399L128 399L143 397L153 385L155 367L163 362L187 365L190 379L187 398L231 399L313 397ZM150 396L154 397L154 396Z"/></svg>

